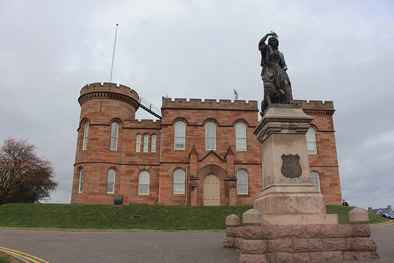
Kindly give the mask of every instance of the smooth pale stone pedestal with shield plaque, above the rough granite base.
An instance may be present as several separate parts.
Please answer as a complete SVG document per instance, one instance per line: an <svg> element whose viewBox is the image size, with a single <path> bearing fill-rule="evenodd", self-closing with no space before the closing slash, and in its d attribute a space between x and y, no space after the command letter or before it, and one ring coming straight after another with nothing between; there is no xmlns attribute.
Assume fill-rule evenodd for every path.
<svg viewBox="0 0 394 263"><path fill-rule="evenodd" d="M263 218L265 215L304 215L287 217L286 221L305 224L306 215L326 214L324 196L313 186L309 174L305 134L312 120L313 117L297 105L273 104L255 129L254 134L262 144L263 189L254 202L254 209L261 212Z"/></svg>

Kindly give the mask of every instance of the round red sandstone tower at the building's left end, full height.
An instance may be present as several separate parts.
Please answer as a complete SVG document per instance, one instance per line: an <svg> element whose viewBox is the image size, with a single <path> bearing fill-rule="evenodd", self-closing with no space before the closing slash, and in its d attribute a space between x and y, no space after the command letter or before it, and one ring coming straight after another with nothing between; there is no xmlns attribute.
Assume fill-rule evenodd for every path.
<svg viewBox="0 0 394 263"><path fill-rule="evenodd" d="M92 83L81 89L71 203L113 202L111 173L115 185L124 151L124 120L135 118L138 99L134 90L115 83Z"/></svg>

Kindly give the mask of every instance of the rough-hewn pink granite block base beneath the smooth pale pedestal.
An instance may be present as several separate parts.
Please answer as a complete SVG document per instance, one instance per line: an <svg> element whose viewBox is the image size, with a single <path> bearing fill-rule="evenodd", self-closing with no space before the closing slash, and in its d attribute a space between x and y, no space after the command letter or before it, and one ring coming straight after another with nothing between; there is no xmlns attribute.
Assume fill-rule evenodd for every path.
<svg viewBox="0 0 394 263"><path fill-rule="evenodd" d="M223 245L237 248L239 262L307 263L378 259L369 225L228 227Z"/></svg>

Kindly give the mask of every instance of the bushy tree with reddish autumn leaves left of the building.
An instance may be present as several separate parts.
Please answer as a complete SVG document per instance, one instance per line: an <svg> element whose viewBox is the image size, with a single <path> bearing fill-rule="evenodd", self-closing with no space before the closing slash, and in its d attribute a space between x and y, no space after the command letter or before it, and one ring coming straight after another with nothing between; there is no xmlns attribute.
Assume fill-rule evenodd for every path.
<svg viewBox="0 0 394 263"><path fill-rule="evenodd" d="M55 169L27 139L4 140L0 148L0 205L37 203L58 186Z"/></svg>

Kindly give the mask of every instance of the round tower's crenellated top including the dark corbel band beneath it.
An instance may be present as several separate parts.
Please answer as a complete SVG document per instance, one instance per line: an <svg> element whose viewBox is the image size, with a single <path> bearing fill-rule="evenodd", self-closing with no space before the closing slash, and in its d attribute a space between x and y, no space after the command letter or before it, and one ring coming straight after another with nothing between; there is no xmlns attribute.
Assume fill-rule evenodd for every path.
<svg viewBox="0 0 394 263"><path fill-rule="evenodd" d="M81 89L81 96L78 98L79 105L89 100L112 99L130 104L135 111L138 109L138 94L128 86L116 83L100 82L86 84Z"/></svg>

